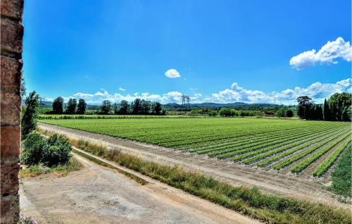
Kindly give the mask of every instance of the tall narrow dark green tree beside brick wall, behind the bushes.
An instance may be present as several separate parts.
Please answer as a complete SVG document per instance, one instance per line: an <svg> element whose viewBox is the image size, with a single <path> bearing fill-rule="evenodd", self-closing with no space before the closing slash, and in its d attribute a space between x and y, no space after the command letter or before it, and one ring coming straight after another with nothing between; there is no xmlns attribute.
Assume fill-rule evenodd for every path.
<svg viewBox="0 0 352 224"><path fill-rule="evenodd" d="M38 108L39 96L35 91L30 92L25 99L25 111L21 120L21 134L23 138L37 128Z"/></svg>

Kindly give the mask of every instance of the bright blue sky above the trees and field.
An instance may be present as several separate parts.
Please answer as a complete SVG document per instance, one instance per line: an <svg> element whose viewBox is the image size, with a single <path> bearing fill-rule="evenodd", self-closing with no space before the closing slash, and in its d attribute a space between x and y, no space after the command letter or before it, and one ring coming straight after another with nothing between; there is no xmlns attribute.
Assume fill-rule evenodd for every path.
<svg viewBox="0 0 352 224"><path fill-rule="evenodd" d="M350 0L32 0L23 23L27 89L47 99L291 104L351 91Z"/></svg>

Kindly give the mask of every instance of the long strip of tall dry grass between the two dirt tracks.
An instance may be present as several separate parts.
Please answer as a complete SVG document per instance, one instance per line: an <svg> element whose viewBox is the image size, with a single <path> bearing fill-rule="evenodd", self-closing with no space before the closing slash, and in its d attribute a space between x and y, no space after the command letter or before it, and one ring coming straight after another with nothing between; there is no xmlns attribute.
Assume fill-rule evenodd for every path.
<svg viewBox="0 0 352 224"><path fill-rule="evenodd" d="M50 133L46 132L46 135ZM351 212L346 209L265 194L256 187L234 187L199 171L145 161L118 149L83 140L70 141L84 151L265 223L351 223Z"/></svg>

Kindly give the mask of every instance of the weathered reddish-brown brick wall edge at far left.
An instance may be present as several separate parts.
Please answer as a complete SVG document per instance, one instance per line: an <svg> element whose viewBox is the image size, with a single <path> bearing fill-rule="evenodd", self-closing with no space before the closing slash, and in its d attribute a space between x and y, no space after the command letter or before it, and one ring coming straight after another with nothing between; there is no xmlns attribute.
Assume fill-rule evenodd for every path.
<svg viewBox="0 0 352 224"><path fill-rule="evenodd" d="M17 223L23 0L1 2L1 224Z"/></svg>

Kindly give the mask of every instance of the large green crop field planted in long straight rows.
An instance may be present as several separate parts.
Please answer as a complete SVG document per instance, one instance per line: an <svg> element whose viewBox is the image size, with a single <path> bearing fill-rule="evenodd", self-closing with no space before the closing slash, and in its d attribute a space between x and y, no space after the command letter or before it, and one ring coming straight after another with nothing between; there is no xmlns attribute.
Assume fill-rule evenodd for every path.
<svg viewBox="0 0 352 224"><path fill-rule="evenodd" d="M321 177L351 144L351 123L260 118L44 119L247 166Z"/></svg>

